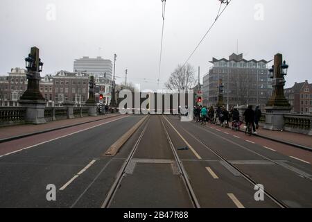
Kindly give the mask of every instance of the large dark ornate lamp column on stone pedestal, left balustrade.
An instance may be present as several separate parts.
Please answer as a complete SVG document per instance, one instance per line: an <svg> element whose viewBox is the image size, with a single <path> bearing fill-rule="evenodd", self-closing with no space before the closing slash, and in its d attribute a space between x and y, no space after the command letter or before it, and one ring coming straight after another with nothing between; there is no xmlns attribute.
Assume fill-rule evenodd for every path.
<svg viewBox="0 0 312 222"><path fill-rule="evenodd" d="M27 69L27 89L19 100L19 105L26 108L25 121L31 124L45 123L44 97L40 93L39 82L41 80L43 62L39 58L39 49L31 48L31 53L25 58Z"/></svg>

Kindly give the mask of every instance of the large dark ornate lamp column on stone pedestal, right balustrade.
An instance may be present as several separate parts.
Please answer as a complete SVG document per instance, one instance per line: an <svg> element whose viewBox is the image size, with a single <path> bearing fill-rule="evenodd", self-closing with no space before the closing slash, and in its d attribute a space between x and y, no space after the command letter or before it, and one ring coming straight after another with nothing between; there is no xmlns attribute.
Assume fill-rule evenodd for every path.
<svg viewBox="0 0 312 222"><path fill-rule="evenodd" d="M277 54L274 57L274 65L269 69L272 76L272 96L266 104L266 124L263 128L270 130L284 129L284 114L291 111L291 104L284 96L285 77L287 75L288 65L283 62L283 56Z"/></svg>

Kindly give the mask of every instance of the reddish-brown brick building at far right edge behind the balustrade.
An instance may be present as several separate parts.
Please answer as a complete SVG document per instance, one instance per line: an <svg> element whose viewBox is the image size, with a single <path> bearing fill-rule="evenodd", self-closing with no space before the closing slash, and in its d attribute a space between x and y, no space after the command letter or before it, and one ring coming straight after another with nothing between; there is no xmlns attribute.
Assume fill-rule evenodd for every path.
<svg viewBox="0 0 312 222"><path fill-rule="evenodd" d="M293 108L291 112L312 114L312 84L308 80L284 89L284 94Z"/></svg>

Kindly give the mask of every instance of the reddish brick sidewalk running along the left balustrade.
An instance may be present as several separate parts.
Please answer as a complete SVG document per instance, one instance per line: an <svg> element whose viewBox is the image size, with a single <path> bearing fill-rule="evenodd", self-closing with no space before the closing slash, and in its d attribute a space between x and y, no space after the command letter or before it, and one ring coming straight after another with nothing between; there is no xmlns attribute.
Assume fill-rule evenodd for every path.
<svg viewBox="0 0 312 222"><path fill-rule="evenodd" d="M98 117L81 117L75 119L63 119L57 121L51 121L41 125L17 125L17 126L3 126L0 128L0 140L10 137L19 137L22 135L40 133L45 130L52 130L55 128L62 128L66 126L72 126L80 123L87 123L90 121L97 121L101 119L107 119L118 116L119 114L107 114Z"/></svg>

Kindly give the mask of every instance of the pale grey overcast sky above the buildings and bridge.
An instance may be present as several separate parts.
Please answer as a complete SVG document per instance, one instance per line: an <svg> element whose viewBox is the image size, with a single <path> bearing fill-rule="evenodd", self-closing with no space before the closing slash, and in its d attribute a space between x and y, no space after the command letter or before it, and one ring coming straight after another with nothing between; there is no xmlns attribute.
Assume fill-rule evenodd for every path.
<svg viewBox="0 0 312 222"><path fill-rule="evenodd" d="M162 87L214 22L219 6L218 0L166 1ZM312 83L311 22L312 1L232 0L189 62L204 76L211 58L228 58L239 40L239 53L248 60L282 53L290 66L287 86ZM122 77L117 82L128 69L132 83L157 87L161 0L1 0L0 27L0 74L24 67L31 46L37 46L43 74L72 71L76 58L113 60L116 53L116 76Z"/></svg>

